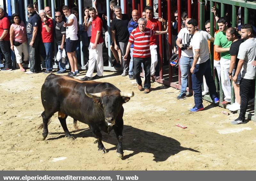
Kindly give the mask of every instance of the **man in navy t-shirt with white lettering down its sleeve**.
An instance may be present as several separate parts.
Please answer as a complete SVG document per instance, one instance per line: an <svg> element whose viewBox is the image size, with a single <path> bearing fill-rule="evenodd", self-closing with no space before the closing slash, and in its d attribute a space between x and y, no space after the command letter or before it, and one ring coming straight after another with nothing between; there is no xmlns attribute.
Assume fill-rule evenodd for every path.
<svg viewBox="0 0 256 181"><path fill-rule="evenodd" d="M28 51L29 51L29 62L30 71L26 74L33 74L42 71L41 62L39 59L39 41L41 39L41 18L34 10L33 4L28 4L27 6L29 19L26 26L27 36L28 36Z"/></svg>

